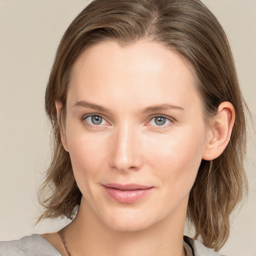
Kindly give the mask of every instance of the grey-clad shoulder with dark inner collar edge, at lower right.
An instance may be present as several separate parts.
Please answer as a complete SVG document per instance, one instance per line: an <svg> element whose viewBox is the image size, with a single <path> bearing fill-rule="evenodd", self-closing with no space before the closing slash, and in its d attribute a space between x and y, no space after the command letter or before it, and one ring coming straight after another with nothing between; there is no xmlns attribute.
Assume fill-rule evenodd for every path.
<svg viewBox="0 0 256 256"><path fill-rule="evenodd" d="M191 247L194 256L224 256L188 236L184 235L183 239Z"/></svg>

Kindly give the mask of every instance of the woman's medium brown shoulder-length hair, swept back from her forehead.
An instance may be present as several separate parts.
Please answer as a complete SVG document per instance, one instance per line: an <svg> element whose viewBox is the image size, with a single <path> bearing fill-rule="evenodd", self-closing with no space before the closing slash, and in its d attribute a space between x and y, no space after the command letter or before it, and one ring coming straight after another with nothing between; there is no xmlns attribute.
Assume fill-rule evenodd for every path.
<svg viewBox="0 0 256 256"><path fill-rule="evenodd" d="M217 113L223 101L231 102L235 108L230 141L219 157L201 161L187 209L195 238L200 237L204 245L218 250L229 235L229 215L247 191L243 167L246 104L226 35L199 0L94 0L69 25L59 43L45 92L54 148L40 189L45 211L38 221L73 218L81 200L69 154L60 140L73 63L86 47L102 40L115 40L125 46L140 39L159 42L186 60L193 70L206 120ZM60 126L56 100L63 104Z"/></svg>

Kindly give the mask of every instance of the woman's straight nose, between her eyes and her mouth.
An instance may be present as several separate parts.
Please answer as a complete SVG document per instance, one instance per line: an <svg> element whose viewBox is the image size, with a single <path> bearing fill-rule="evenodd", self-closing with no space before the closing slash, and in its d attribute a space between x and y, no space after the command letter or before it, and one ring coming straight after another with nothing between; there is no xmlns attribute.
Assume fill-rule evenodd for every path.
<svg viewBox="0 0 256 256"><path fill-rule="evenodd" d="M122 125L113 132L110 165L119 171L138 170L142 165L138 131L132 125Z"/></svg>

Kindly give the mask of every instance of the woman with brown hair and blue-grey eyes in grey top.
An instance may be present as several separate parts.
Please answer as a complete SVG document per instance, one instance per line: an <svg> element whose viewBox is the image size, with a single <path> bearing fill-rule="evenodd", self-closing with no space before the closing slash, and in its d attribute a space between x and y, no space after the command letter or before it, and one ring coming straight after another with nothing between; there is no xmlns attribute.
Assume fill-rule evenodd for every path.
<svg viewBox="0 0 256 256"><path fill-rule="evenodd" d="M225 243L247 186L244 105L199 0L91 2L45 93L55 148L39 220L74 220L2 242L1 255L219 255L209 248ZM186 217L204 245L183 237Z"/></svg>

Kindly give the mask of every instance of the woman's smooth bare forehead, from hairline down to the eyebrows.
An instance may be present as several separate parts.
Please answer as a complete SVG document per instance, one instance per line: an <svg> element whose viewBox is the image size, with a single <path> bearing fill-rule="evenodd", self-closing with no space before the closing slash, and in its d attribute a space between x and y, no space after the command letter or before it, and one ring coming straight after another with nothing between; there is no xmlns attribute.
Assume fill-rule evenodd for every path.
<svg viewBox="0 0 256 256"><path fill-rule="evenodd" d="M141 105L199 100L194 76L181 56L145 40L125 47L102 41L86 48L73 65L68 94L76 101L132 98Z"/></svg>

